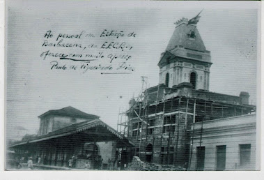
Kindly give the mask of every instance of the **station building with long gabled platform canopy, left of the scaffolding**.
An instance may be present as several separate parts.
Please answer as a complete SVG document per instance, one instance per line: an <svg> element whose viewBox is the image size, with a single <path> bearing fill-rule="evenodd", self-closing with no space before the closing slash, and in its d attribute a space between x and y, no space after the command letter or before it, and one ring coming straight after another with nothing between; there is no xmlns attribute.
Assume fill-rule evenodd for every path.
<svg viewBox="0 0 264 180"><path fill-rule="evenodd" d="M52 169L68 167L73 159L73 168L84 169L88 163L92 170L116 170L119 162L127 163L125 149L132 143L98 116L69 106L49 110L39 118L37 137L9 147L24 163L30 157L37 163L40 157L40 168Z"/></svg>

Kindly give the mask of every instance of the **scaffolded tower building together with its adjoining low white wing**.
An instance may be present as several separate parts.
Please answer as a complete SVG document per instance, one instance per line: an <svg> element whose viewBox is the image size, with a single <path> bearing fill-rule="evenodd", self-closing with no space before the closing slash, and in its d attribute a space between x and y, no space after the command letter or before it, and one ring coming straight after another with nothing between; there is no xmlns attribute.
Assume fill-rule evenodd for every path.
<svg viewBox="0 0 264 180"><path fill-rule="evenodd" d="M119 124L135 144L132 154L145 162L254 170L256 106L244 91L238 96L209 91L212 61L198 22L199 16L176 22L157 64L159 84L132 98L128 120Z"/></svg>

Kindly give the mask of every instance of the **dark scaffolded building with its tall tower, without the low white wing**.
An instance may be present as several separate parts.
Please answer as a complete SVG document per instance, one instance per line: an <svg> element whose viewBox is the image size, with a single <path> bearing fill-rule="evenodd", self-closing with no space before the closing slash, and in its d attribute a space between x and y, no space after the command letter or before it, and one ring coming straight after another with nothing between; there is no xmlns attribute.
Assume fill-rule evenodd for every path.
<svg viewBox="0 0 264 180"><path fill-rule="evenodd" d="M242 91L239 96L230 96L209 91L212 62L210 51L205 49L196 27L197 22L199 15L175 23L176 29L158 63L159 84L143 88L138 98L130 100L129 110L125 112L127 119L118 121L118 130L135 144L132 156L139 156L145 162L204 170L207 155L205 147L202 147L206 138L203 123L208 126L208 122L210 124L216 119L255 114L256 106L249 105L249 93ZM146 77L142 80L144 84ZM256 115L254 118L256 136ZM199 123L197 129L196 123ZM227 126L231 125L223 126L224 129ZM217 134L217 126L210 132ZM198 143L195 147L194 141ZM251 148L255 147L251 145ZM194 152L196 160L192 160ZM217 157L218 154L215 155ZM220 170L223 164L226 167L225 158L226 155L217 160L216 168ZM192 162L196 165L192 166Z"/></svg>

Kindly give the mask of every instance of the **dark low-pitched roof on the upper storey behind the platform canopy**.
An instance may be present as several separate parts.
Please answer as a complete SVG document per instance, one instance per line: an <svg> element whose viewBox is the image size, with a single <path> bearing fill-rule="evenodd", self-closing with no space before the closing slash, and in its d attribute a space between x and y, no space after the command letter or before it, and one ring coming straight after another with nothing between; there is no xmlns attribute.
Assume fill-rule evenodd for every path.
<svg viewBox="0 0 264 180"><path fill-rule="evenodd" d="M83 117L83 118L89 118L89 119L99 118L96 115L82 112L80 110L77 110L75 107L71 107L71 106L64 107L60 110L49 110L45 112L44 114L41 114L39 118L42 118L46 116L47 114L58 114L58 115L65 115L65 116L71 116L71 117Z"/></svg>

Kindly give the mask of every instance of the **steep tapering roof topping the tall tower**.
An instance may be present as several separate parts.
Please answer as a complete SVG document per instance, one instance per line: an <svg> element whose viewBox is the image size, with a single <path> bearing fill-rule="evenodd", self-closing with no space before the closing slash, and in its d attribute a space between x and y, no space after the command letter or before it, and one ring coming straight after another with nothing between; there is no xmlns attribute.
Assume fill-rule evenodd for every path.
<svg viewBox="0 0 264 180"><path fill-rule="evenodd" d="M194 31L195 38L190 38L190 33ZM200 33L196 28L196 24L188 24L186 18L178 23L176 29L169 40L169 44L166 47L166 51L173 50L176 46L183 46L189 50L196 50L200 52L205 52L206 48L201 39Z"/></svg>

